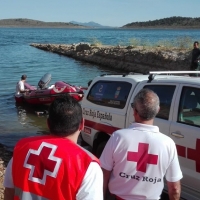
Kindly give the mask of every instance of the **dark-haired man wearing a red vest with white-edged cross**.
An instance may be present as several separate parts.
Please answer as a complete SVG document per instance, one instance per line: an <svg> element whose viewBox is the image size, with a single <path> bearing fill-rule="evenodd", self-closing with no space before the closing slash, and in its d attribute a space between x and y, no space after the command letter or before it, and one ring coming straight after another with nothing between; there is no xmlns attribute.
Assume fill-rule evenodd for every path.
<svg viewBox="0 0 200 200"><path fill-rule="evenodd" d="M21 139L4 179L4 199L103 200L99 160L77 145L82 108L71 96L56 98L47 120L50 135Z"/></svg>

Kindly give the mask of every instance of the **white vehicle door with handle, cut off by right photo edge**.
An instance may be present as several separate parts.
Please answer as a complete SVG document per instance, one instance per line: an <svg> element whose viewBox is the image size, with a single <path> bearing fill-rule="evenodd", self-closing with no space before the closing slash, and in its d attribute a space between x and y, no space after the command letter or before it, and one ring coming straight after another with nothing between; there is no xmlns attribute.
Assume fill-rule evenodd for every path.
<svg viewBox="0 0 200 200"><path fill-rule="evenodd" d="M170 137L176 143L183 172L182 191L188 191L187 193L200 199L199 86L180 85L170 126Z"/></svg>

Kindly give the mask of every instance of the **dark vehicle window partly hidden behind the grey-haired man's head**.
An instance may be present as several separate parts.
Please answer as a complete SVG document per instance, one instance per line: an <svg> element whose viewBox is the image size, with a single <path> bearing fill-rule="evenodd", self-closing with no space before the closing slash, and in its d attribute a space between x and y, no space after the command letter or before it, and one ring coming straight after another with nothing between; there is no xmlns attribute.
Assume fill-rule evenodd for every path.
<svg viewBox="0 0 200 200"><path fill-rule="evenodd" d="M176 86L174 85L146 85L144 88L153 90L160 99L160 111L157 118L169 119L169 112Z"/></svg>

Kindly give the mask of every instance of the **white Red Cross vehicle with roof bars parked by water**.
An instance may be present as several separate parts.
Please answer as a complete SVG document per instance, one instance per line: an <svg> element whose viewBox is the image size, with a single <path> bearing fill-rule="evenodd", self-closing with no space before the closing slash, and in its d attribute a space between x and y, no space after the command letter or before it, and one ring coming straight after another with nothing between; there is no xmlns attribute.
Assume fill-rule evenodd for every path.
<svg viewBox="0 0 200 200"><path fill-rule="evenodd" d="M159 75L102 75L94 78L81 102L85 128L81 132L93 153L100 156L110 135L133 122L131 103L142 89L160 98L154 124L176 143L183 172L182 198L200 199L200 77ZM195 72L197 73L197 72ZM200 73L200 72L198 72Z"/></svg>

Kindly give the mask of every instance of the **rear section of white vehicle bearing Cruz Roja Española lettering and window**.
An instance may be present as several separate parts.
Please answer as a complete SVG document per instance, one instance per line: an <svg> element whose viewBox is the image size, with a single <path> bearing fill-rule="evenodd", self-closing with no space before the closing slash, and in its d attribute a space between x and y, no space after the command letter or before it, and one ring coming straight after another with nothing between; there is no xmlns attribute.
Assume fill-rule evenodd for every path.
<svg viewBox="0 0 200 200"><path fill-rule="evenodd" d="M104 78L92 85L81 103L85 119L81 134L85 142L93 146L99 133L110 135L124 128L127 102L132 90L133 84L122 77L112 80Z"/></svg>

